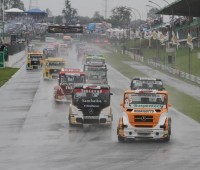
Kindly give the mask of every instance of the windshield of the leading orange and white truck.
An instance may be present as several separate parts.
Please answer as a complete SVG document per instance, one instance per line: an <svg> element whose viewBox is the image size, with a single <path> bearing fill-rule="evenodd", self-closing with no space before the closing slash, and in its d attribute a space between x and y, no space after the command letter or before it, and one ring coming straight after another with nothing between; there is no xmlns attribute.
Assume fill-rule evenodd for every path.
<svg viewBox="0 0 200 170"><path fill-rule="evenodd" d="M166 108L166 94L125 94L124 106L127 108Z"/></svg>

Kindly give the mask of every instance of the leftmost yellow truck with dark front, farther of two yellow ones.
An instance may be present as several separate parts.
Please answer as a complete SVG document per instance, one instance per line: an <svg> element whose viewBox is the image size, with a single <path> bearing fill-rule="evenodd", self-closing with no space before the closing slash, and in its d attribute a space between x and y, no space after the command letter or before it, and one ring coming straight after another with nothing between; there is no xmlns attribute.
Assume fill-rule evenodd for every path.
<svg viewBox="0 0 200 170"><path fill-rule="evenodd" d="M41 69L43 66L43 53L40 51L33 51L27 53L27 60L26 60L26 69Z"/></svg>

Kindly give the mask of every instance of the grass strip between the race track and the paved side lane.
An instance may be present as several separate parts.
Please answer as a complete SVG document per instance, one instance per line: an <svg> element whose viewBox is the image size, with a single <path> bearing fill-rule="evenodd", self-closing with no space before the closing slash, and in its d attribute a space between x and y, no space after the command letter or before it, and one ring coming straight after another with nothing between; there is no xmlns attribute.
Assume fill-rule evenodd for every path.
<svg viewBox="0 0 200 170"><path fill-rule="evenodd" d="M121 55L119 53L107 53L105 54L106 61L112 67L117 69L123 75L131 79L134 76L147 76L123 63L122 61L131 61L132 59L128 55ZM199 100L178 91L174 87L166 86L166 90L169 92L170 104L180 112L188 115L192 119L200 122L200 104Z"/></svg>

